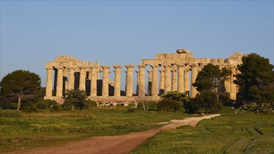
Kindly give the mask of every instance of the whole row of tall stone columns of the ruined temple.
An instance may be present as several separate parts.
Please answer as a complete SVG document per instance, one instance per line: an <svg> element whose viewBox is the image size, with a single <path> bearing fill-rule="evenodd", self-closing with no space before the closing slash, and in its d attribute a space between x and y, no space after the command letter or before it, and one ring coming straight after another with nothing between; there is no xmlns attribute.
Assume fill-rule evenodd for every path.
<svg viewBox="0 0 274 154"><path fill-rule="evenodd" d="M137 94L138 96L145 96L145 69L146 65L139 64L137 65L139 70L137 72ZM198 64L190 65L186 64L163 64L160 71L160 84L158 88L158 64L151 65L152 70L149 72L149 85L148 85L148 94L153 97L157 97L159 94L166 94L170 91L179 91L186 92L189 90L189 71L191 69L191 97L195 97L198 93L196 88L193 87L192 83L195 83L199 66ZM114 96L121 96L121 68L123 65L114 65ZM126 72L126 96L132 96L133 94L133 85L132 85L132 76L133 68L135 65L125 65L127 68ZM102 66L102 96L109 96L109 66ZM53 78L53 68L46 68L48 70L47 83L46 83L46 96L52 96L52 78ZM87 71L89 72L90 78L90 96L97 96L97 79L99 78L98 72L100 73L100 66L91 66L85 67L81 66L79 68L69 67L66 70L62 66L55 67L57 70L57 82L56 82L56 97L62 97L63 95L63 76L66 76L67 69L69 71L69 82L68 87L65 89L72 90L74 89L74 73L80 69L80 80L79 80L79 89L85 90L85 78ZM232 75L230 80L225 80L225 87L228 92L231 93L234 98L236 94L236 85L233 83L235 77L236 69L231 67ZM66 84L67 85L67 84ZM160 91L158 91L160 89Z"/></svg>

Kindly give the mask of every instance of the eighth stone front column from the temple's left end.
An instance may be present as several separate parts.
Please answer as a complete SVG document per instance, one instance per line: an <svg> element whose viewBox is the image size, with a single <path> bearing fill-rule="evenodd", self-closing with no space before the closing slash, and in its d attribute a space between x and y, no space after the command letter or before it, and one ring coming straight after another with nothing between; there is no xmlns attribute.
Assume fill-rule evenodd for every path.
<svg viewBox="0 0 274 154"><path fill-rule="evenodd" d="M132 84L132 75L133 75L133 68L135 65L133 64L128 64L125 65L125 67L127 68L127 75L126 75L126 96L132 96L133 94L133 84Z"/></svg>

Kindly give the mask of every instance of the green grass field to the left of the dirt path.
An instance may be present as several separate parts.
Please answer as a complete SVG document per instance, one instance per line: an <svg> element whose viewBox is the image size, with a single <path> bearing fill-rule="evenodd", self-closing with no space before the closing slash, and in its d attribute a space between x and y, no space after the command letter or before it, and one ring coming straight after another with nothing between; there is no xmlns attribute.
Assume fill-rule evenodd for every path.
<svg viewBox="0 0 274 154"><path fill-rule="evenodd" d="M181 112L142 111L127 113L128 108L90 109L82 111L43 111L24 113L0 111L1 152L20 151L41 146L53 146L88 137L126 134L149 130L160 125L148 125L181 119Z"/></svg>

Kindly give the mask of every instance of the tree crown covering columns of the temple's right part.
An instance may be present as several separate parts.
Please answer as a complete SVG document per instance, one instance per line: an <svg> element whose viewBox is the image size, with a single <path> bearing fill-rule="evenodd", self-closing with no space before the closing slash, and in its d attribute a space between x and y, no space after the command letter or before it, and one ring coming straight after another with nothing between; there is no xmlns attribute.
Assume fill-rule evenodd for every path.
<svg viewBox="0 0 274 154"><path fill-rule="evenodd" d="M230 74L231 71L226 68L220 70L218 66L207 64L203 67L202 71L198 73L193 86L196 87L199 92L203 90L218 92L220 81L225 80Z"/></svg>

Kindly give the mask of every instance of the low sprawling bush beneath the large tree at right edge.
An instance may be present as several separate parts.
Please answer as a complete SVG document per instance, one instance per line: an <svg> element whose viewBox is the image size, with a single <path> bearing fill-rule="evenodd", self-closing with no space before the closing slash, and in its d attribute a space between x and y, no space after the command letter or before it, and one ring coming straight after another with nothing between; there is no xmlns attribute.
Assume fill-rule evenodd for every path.
<svg viewBox="0 0 274 154"><path fill-rule="evenodd" d="M255 113L274 113L274 106L270 103L256 103L250 102L248 104L244 104L240 106L240 110L242 111L252 111Z"/></svg>

